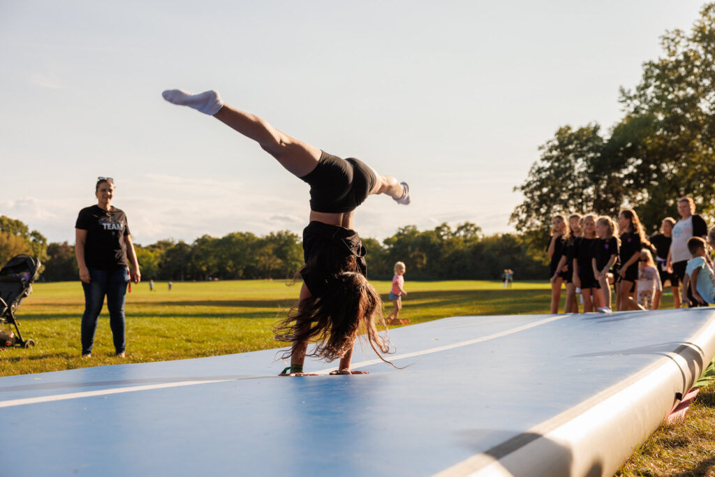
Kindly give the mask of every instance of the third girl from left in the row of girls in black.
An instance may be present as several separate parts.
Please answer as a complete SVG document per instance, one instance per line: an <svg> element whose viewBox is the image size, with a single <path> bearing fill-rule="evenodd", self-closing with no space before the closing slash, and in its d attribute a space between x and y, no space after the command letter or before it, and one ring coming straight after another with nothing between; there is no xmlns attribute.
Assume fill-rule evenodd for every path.
<svg viewBox="0 0 715 477"><path fill-rule="evenodd" d="M583 217L581 236L573 241L573 284L581 289L583 311L588 313L603 307L598 281L593 275L593 242L596 241L596 216L586 214Z"/></svg>

